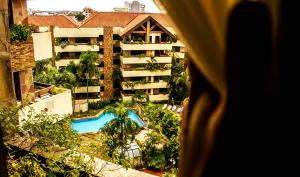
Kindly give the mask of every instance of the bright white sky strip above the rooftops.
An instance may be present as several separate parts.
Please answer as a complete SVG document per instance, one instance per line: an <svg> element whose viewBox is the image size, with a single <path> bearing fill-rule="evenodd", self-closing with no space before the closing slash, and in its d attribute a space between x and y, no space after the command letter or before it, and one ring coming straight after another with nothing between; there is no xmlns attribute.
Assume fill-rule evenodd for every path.
<svg viewBox="0 0 300 177"><path fill-rule="evenodd" d="M146 12L160 12L153 0L138 1L146 5ZM27 8L47 11L81 11L84 7L90 7L97 11L112 11L114 7L124 7L124 2L125 0L27 0Z"/></svg>

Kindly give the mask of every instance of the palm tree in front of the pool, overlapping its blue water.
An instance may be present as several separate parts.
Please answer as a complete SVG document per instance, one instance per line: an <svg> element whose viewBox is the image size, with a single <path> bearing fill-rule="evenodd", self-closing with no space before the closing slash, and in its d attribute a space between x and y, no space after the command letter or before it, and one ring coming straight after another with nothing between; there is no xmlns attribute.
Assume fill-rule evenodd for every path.
<svg viewBox="0 0 300 177"><path fill-rule="evenodd" d="M104 112L115 114L116 118L111 120L101 129L102 132L116 138L120 142L121 158L124 158L124 149L127 141L133 141L135 134L140 130L138 123L128 117L132 108L126 102L117 103L116 107L108 106Z"/></svg>

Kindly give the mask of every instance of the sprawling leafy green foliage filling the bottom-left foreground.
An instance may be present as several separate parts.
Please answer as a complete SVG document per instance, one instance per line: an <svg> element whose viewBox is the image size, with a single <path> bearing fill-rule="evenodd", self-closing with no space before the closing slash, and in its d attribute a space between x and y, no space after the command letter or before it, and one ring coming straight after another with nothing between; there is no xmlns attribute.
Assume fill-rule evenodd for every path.
<svg viewBox="0 0 300 177"><path fill-rule="evenodd" d="M80 171L91 172L93 163L84 161L78 152L79 135L71 128L69 117L31 110L25 121L14 124L21 109L0 108L9 176L78 176Z"/></svg>

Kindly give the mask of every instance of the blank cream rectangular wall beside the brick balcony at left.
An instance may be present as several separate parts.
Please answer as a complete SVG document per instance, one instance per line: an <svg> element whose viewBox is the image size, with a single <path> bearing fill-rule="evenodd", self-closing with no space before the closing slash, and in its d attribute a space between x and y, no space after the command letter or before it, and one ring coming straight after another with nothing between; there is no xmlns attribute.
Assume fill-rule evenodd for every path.
<svg viewBox="0 0 300 177"><path fill-rule="evenodd" d="M32 38L35 61L52 58L51 32L33 33Z"/></svg>

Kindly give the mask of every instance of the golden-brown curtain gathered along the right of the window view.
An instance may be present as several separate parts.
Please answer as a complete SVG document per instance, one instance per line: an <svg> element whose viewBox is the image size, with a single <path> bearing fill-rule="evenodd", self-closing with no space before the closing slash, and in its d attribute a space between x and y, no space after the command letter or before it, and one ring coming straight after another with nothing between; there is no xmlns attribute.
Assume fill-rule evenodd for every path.
<svg viewBox="0 0 300 177"><path fill-rule="evenodd" d="M241 1L155 0L166 10L190 56L191 93L185 105L181 134L179 173L182 177L203 174L226 109L227 21L232 8ZM270 8L276 26L279 0L263 2Z"/></svg>

